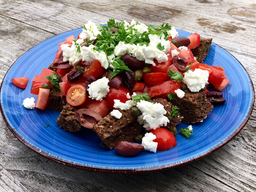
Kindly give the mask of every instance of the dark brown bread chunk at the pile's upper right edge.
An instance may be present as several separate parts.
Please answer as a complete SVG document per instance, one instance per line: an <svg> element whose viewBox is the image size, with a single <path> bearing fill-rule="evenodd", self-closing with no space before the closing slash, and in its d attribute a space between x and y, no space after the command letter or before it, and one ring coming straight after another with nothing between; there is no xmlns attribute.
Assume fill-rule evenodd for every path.
<svg viewBox="0 0 256 192"><path fill-rule="evenodd" d="M198 57L197 60L199 63L202 63L205 57L208 55L208 52L211 48L213 38L200 39L200 45L195 49L191 49L194 57Z"/></svg>

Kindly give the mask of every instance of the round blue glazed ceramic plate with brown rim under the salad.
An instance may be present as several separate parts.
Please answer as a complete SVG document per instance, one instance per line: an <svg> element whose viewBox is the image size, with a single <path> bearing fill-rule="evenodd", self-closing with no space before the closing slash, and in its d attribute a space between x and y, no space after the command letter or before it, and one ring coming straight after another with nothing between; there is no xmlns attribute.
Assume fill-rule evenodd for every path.
<svg viewBox="0 0 256 192"><path fill-rule="evenodd" d="M30 94L32 80L54 60L58 43L74 35L75 29L47 39L24 53L8 70L1 86L1 113L11 132L33 151L59 163L103 172L142 172L161 170L198 160L234 138L247 123L254 104L254 89L244 67L230 53L212 43L204 63L225 69L230 84L223 91L227 102L215 106L201 123L193 124L191 137L176 135L177 146L165 152L143 151L136 157L123 157L115 150L100 146L101 139L91 130L70 133L60 129L56 119L60 112L28 110L22 103ZM180 31L180 37L188 32ZM27 88L14 86L11 78L29 77ZM44 128L49 123L50 126ZM185 128L187 124L177 126Z"/></svg>

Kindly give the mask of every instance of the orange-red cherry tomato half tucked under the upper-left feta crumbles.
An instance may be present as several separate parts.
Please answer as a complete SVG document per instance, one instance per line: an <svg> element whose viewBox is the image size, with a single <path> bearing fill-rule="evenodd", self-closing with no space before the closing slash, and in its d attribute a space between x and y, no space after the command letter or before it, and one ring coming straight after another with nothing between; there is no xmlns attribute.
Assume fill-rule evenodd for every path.
<svg viewBox="0 0 256 192"><path fill-rule="evenodd" d="M84 67L84 77L88 77L89 75L94 76L95 78L101 76L104 71L105 68L101 66L101 63L99 60L94 60L90 63L90 65L86 65Z"/></svg>

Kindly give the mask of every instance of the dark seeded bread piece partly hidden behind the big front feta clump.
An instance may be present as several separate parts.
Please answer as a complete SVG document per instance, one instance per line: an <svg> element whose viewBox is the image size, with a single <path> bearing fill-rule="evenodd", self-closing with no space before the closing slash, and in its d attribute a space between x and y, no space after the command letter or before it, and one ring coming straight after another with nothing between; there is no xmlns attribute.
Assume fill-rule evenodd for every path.
<svg viewBox="0 0 256 192"><path fill-rule="evenodd" d="M167 111L167 113L165 114L166 117L169 118L169 115L172 111L172 104L171 102L168 102L166 99L162 99L162 98L155 98L153 99L154 103L160 103L164 106L164 109ZM178 116L173 118L173 119L169 119L169 123L167 123L166 126L164 126L163 128L166 128L169 130L170 127L175 127L176 125L178 125L181 121L182 121L183 117L181 116L180 112L178 112Z"/></svg>

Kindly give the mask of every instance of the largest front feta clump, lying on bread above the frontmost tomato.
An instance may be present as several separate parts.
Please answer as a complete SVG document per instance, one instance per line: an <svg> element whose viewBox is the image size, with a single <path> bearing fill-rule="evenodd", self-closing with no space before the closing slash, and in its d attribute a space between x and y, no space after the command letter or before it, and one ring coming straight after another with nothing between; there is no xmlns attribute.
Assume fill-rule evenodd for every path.
<svg viewBox="0 0 256 192"><path fill-rule="evenodd" d="M146 128L147 131L151 129L156 129L160 126L166 126L168 122L167 117L164 115L166 114L166 110L164 106L161 104L153 104L148 101L140 101L137 103L138 109L142 113L143 117L143 127ZM138 122L142 124L141 116L139 116Z"/></svg>

